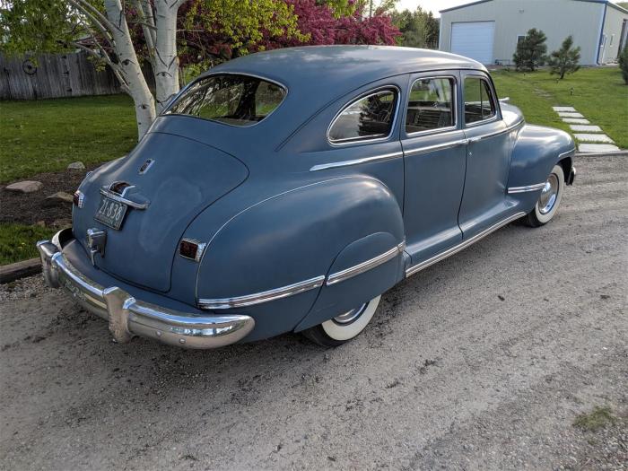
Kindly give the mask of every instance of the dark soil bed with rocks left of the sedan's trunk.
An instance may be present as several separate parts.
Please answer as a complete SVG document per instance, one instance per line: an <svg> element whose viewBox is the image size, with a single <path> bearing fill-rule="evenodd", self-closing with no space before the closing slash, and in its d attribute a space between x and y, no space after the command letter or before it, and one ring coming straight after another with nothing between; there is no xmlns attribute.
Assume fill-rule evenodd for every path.
<svg viewBox="0 0 628 471"><path fill-rule="evenodd" d="M69 221L72 218L72 205L46 206L46 197L57 191L65 191L72 195L85 178L85 173L96 167L98 165L92 165L87 170L64 170L33 175L29 179L43 183L43 188L33 193L13 193L6 190L6 185L3 185L0 189L0 207L2 208L0 223L36 224L43 221L46 225L52 225L56 221ZM13 182L7 185L11 183Z"/></svg>

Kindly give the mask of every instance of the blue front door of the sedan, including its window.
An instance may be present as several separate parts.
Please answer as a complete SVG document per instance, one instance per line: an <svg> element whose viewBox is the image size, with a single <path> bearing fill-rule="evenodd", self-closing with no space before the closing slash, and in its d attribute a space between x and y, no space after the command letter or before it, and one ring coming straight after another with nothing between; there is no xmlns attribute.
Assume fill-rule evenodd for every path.
<svg viewBox="0 0 628 471"><path fill-rule="evenodd" d="M499 222L509 210L505 196L511 138L488 75L466 71L461 79L467 174L458 224L468 239Z"/></svg>

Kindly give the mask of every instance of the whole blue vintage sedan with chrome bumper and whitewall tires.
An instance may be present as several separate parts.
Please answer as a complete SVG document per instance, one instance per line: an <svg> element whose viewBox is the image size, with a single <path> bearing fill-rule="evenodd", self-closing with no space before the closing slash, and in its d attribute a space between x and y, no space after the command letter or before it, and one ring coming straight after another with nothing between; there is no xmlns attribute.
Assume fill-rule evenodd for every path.
<svg viewBox="0 0 628 471"><path fill-rule="evenodd" d="M253 54L198 77L88 174L72 229L38 243L43 273L118 342L340 345L406 276L509 222L549 222L573 153L465 57Z"/></svg>

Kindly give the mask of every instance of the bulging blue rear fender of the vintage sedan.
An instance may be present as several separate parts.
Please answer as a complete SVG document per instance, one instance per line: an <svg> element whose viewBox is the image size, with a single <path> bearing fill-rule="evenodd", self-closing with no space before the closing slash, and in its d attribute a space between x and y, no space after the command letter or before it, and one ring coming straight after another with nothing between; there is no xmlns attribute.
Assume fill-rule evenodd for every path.
<svg viewBox="0 0 628 471"><path fill-rule="evenodd" d="M329 179L287 191L250 206L216 233L201 260L196 296L231 299L327 277L347 246L382 232L388 236L374 237L372 246L363 248L365 258L379 249L382 238L393 245L404 240L397 199L378 179ZM359 258L348 254L347 260ZM319 286L228 311L255 318L247 340L266 338L294 329L318 292Z"/></svg>

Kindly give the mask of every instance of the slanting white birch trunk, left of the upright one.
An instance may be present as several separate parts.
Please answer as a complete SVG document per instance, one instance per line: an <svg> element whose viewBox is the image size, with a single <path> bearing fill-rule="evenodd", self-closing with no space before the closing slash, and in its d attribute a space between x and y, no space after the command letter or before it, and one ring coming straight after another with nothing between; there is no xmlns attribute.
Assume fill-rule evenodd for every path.
<svg viewBox="0 0 628 471"><path fill-rule="evenodd" d="M119 74L125 82L122 83L122 86L135 103L137 134L141 139L156 117L153 94L148 88L144 74L142 74L142 68L137 60L120 0L105 0L105 10L107 18L112 24L110 32L118 55Z"/></svg>

